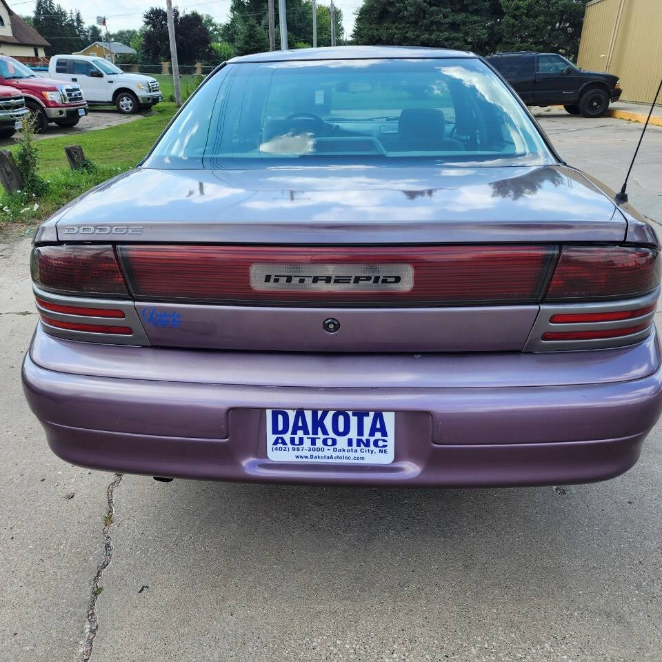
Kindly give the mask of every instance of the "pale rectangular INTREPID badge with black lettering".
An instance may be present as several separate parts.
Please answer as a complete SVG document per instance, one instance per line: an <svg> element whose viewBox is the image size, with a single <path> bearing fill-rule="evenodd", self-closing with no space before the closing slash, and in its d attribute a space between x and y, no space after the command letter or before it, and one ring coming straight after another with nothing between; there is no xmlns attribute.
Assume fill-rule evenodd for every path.
<svg viewBox="0 0 662 662"><path fill-rule="evenodd" d="M414 285L410 264L252 264L254 290L318 292L408 292Z"/></svg>

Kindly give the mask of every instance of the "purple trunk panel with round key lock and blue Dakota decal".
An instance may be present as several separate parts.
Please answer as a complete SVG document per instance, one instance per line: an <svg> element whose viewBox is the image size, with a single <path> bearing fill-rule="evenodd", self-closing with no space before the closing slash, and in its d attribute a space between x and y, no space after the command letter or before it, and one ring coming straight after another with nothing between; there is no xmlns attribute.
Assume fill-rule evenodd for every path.
<svg viewBox="0 0 662 662"><path fill-rule="evenodd" d="M270 308L139 301L136 310L181 315L177 328L143 328L152 345L284 352L521 350L538 305L457 308ZM341 321L330 334L327 317ZM141 317L141 319L143 319ZM490 328L489 341L485 328Z"/></svg>

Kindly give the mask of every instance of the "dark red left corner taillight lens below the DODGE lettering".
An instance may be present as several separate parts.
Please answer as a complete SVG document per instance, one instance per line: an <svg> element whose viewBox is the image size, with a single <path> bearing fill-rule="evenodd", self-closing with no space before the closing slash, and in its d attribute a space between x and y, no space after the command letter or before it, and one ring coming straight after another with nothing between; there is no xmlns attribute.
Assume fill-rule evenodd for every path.
<svg viewBox="0 0 662 662"><path fill-rule="evenodd" d="M109 245L40 246L32 250L30 270L34 284L49 292L128 297Z"/></svg>

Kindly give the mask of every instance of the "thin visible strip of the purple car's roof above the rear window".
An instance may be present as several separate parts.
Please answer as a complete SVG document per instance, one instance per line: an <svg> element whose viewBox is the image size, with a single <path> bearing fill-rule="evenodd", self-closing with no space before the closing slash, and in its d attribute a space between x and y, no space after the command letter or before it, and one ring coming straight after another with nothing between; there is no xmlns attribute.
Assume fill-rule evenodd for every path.
<svg viewBox="0 0 662 662"><path fill-rule="evenodd" d="M465 50L427 46L334 46L332 48L294 48L233 57L228 62L283 62L304 60L360 60L397 58L477 57Z"/></svg>

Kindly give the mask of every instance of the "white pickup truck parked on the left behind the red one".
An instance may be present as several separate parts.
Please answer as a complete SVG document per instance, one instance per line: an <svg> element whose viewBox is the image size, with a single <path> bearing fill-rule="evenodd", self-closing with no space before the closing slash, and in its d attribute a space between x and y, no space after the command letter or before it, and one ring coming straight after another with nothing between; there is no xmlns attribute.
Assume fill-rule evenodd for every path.
<svg viewBox="0 0 662 662"><path fill-rule="evenodd" d="M54 79L78 83L90 105L112 103L124 114L163 101L157 79L123 72L103 57L54 55L48 63L48 74Z"/></svg>

